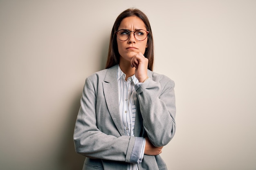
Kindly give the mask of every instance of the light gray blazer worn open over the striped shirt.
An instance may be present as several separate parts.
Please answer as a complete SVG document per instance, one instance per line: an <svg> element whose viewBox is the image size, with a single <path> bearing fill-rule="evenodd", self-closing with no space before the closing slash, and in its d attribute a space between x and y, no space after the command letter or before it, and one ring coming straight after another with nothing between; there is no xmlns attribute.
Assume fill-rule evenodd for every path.
<svg viewBox="0 0 256 170"><path fill-rule="evenodd" d="M124 135L119 115L118 66L86 78L74 129L76 152L86 156L83 170L127 170L135 137L165 146L175 133L174 82L148 70L137 89L134 136ZM139 170L167 170L162 158L144 155Z"/></svg>

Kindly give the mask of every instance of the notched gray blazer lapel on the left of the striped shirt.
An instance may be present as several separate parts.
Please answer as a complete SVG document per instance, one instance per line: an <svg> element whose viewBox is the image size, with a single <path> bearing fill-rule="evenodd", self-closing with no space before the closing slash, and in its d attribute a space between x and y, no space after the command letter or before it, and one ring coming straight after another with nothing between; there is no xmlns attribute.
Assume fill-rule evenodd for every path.
<svg viewBox="0 0 256 170"><path fill-rule="evenodd" d="M123 126L121 124L121 118L119 113L119 104L118 104L118 81L117 81L117 67L113 66L108 68L106 73L106 77L104 79L103 85L103 92L106 99L106 103L108 106L108 110L112 117L112 120L117 127L121 136L124 136Z"/></svg>

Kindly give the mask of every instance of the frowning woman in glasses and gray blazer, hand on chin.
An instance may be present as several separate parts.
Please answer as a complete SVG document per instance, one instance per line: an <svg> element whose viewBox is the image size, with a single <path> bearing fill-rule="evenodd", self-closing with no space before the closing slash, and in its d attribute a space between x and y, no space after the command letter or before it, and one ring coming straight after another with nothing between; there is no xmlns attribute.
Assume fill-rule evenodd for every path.
<svg viewBox="0 0 256 170"><path fill-rule="evenodd" d="M167 170L159 154L175 133L174 82L154 73L153 35L138 9L112 28L106 69L85 80L74 129L83 170Z"/></svg>

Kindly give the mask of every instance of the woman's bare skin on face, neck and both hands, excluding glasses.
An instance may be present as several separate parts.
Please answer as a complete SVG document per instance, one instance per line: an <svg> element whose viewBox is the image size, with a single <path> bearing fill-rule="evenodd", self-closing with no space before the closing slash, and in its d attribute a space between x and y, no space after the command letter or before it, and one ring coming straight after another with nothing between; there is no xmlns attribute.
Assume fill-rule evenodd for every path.
<svg viewBox="0 0 256 170"><path fill-rule="evenodd" d="M128 29L129 31L135 31L137 29L146 30L146 26L140 18L131 16L121 21L118 30L120 29ZM126 74L126 80L134 74L139 82L144 82L148 77L148 59L144 57L145 50L148 47L147 40L148 38L144 41L137 41L132 33L126 41L121 41L117 38L117 46L120 54L119 66ZM159 155L162 153L162 146L155 147L148 138L145 139L146 146L144 154Z"/></svg>

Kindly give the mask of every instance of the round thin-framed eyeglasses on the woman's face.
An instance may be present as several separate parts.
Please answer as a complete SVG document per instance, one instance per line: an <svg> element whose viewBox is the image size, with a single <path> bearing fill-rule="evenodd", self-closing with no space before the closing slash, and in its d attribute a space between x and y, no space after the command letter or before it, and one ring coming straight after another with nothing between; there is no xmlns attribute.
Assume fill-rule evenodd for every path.
<svg viewBox="0 0 256 170"><path fill-rule="evenodd" d="M136 31L129 31L128 29L120 29L115 31L117 34L117 38L121 41L126 41L129 39L131 32L134 32L133 35L136 40L143 41L147 38L149 31L145 31L143 29L138 29Z"/></svg>

